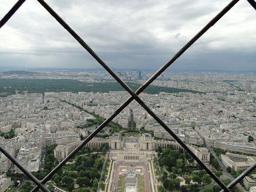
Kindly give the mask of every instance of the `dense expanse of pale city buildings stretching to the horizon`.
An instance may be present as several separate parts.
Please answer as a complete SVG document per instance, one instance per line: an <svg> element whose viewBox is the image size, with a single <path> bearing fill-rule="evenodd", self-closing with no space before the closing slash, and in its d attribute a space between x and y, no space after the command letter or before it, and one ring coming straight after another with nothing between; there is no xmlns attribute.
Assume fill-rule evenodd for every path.
<svg viewBox="0 0 256 192"><path fill-rule="evenodd" d="M133 70L130 72L126 73L126 75L128 77L134 76L132 86L135 86L135 82L141 83L145 81L136 78L140 77L140 73L138 74L137 71ZM121 74L119 73L119 75ZM146 77L147 75L150 76L151 73L146 74ZM55 90L47 89L45 90L47 92L44 93L24 90L28 86L25 83L25 79L31 79L32 81L37 81L38 78L48 79L53 84L57 80L56 77L60 78L62 83L70 78L73 80L79 79L80 82L84 83L88 82L87 85L84 85L84 88L89 86L94 87L94 90L87 90L87 92L81 90L72 93L65 88L57 93L56 91L59 89L57 86L55 86ZM74 148L84 143L87 140L85 137L90 133L94 133L99 128L99 124L111 116L129 97L129 94L125 91L108 91L105 93L102 90L96 91L94 82L104 82L105 87L108 87L107 81L113 81L111 80L113 78L106 72L55 71L53 73L31 73L16 71L1 73L0 78L12 82L22 82L21 89L17 88L12 95L1 97L0 99L0 132L2 136L0 144L12 156L17 157L17 161L27 170L35 172L35 177L40 180L53 167L59 166L59 162L63 158L67 158L67 155ZM158 94L148 94L144 91L144 93L140 94L140 97L145 102L145 105L149 106L156 116L159 116L165 125L173 131L173 134L167 132L168 130L164 130L156 122L156 119L147 113L137 102L131 102L127 108L123 109L122 113L119 113L108 126L105 126L97 134L97 137L101 138L94 137L86 144L86 148L79 151L76 155L76 158L87 158L86 154L89 153L89 150L91 152L93 150L96 151L97 156L102 150L104 155L108 148L109 151L106 153L104 161L111 161L112 163L109 163L109 170L115 170L114 172L117 174L112 174L112 177L112 171L105 171L105 174L102 174L104 179L100 180L100 170L102 170L103 166L96 166L95 163L99 160L103 163L103 159L98 157L97 160L93 161L94 164L90 166L90 162L86 161L88 168L84 169L89 173L87 176L84 176L84 170L81 170L81 167L79 167L83 166L80 165L81 161L77 160L76 162L80 162L79 164L72 163L72 169L63 172L61 175L57 174L58 177L55 175L52 178L56 184L60 183L60 181L66 183L67 191L72 191L75 187L73 177L70 177L69 184L67 184L67 180L65 181L67 177L65 174L67 173L77 177L76 188L80 187L81 191L84 186L87 187L87 184L80 181L89 180L88 178L93 181L95 188L100 186L105 191L110 191L111 187L112 189L119 187L119 184L117 184L119 183L117 181L119 178L118 173L125 174L126 170L136 168L135 175L141 175L142 170L143 174L150 174L150 177L147 175L141 176L144 178L145 188L149 187L149 182L146 182L148 178L151 179L152 186L158 188L160 183L152 182L153 178L157 180L157 175L160 174L154 173L154 164L157 163L163 166L164 163L170 162L166 162L166 157L163 157L167 151L172 151L168 149L170 146L177 153L182 147L186 146L186 150L191 150L195 155L193 158L200 158L205 163L204 166L207 167L210 166L209 164L216 166L215 163L210 163L209 157L210 152L212 153L212 150L216 151L218 148L217 150L222 150L220 157L224 165L220 164L223 171L218 171L216 176L218 175L217 177L221 181L231 178L230 174L238 177L241 171L244 171L256 162L255 157L248 159L249 154L256 154L255 82L255 75L251 73L164 73L161 79L156 79L152 83L154 86L162 86L161 92ZM213 84L214 86L212 86ZM249 84L250 87L248 86ZM3 91L5 92L14 86L14 83L11 86L6 85L3 87ZM32 84L29 86L34 87ZM178 93L165 92L163 86L179 89L189 88L202 92L191 93L183 90L180 90ZM72 87L74 88L75 86ZM130 122L134 123L133 128ZM136 131L135 134L129 133L134 131ZM173 141L175 136L186 144L181 145L182 143ZM56 148L54 148L55 145L57 145ZM104 146L105 150L103 150ZM16 153L17 150L19 151ZM167 151L164 152L164 150ZM49 154L50 151L52 154ZM162 151L162 154L160 151ZM230 151L232 153L223 154L223 151ZM239 154L246 154L246 156L233 154L233 151ZM187 157L183 152L181 154L183 157L180 156L180 158L182 157L184 160L179 160L180 163L177 163L178 159L175 159L172 164L166 166L172 167L176 166L176 163L179 164L178 166L181 167L178 168L180 174L192 177L192 180L197 182L194 176L198 171L196 170L188 174L190 171L184 169L184 167L188 166L183 166L182 164L182 162L189 162L189 165L195 168L193 165L195 163L194 159L190 158L190 156ZM94 154L92 153L92 155ZM156 155L159 157L159 163L157 162ZM90 158L93 157L96 158L95 156ZM51 167L49 166L49 158L52 158L52 161L54 161L54 165L51 164ZM230 163L232 158L245 158L248 160ZM11 172L21 173L17 166L12 166L7 157L2 156L0 161L0 170L2 172L11 170ZM148 168L147 164L149 170L146 169ZM70 166L70 164L67 166ZM123 168L114 169L114 167L119 166ZM143 167L144 169L142 169ZM232 171L230 174L226 170L228 167ZM175 174L174 180L176 178L182 180L176 186L177 189L184 188L186 180L176 175L177 173L173 169L168 168L167 171ZM96 174L92 174L92 172ZM108 176L103 177L107 175L107 172L109 173ZM163 185L166 189L169 187L166 185L166 182L171 182L173 179L163 180ZM7 181L6 179L6 185L11 185ZM110 183L116 183L116 185L111 186ZM130 184L143 189L143 186L139 186L139 183L141 182L134 180ZM199 181L199 183L202 182ZM208 180L208 183L211 183L211 179ZM26 184L23 186L26 186ZM61 189L62 186L58 185ZM244 186L247 189L250 187L247 185L246 179L244 180ZM55 187L55 184L48 183L47 187L51 189ZM185 187L191 188L192 186Z"/></svg>

